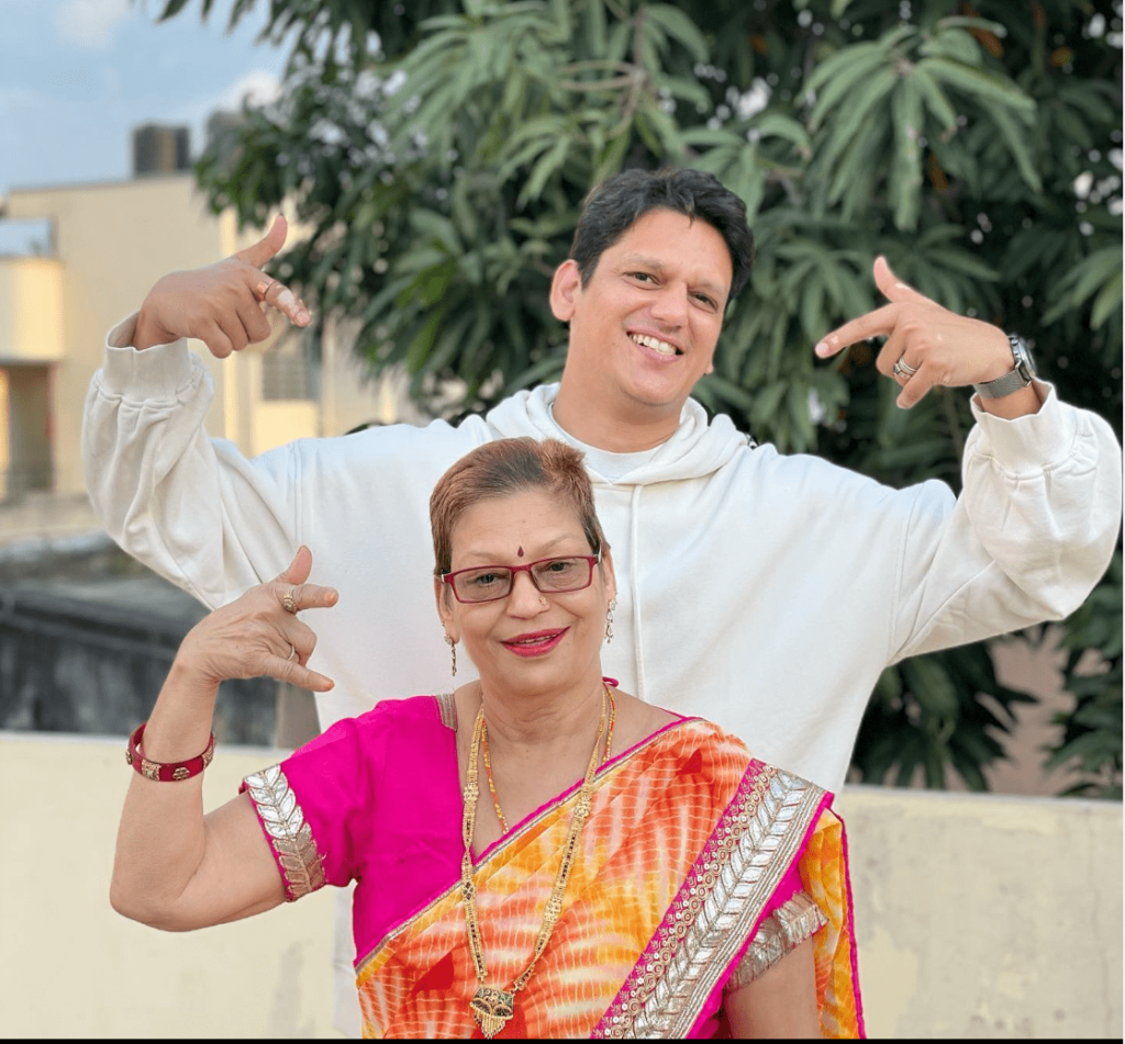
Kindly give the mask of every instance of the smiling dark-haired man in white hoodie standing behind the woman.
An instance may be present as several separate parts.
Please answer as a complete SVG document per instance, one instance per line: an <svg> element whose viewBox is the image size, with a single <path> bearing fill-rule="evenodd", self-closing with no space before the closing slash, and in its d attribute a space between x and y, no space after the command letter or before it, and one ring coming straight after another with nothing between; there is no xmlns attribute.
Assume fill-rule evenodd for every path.
<svg viewBox="0 0 1125 1044"><path fill-rule="evenodd" d="M318 700L322 727L448 688L428 497L487 439L586 451L619 584L603 662L621 687L834 791L884 666L1062 618L1109 562L1120 511L1109 426L1032 380L1018 342L917 293L882 258L890 303L817 352L885 335L878 365L903 408L938 384L975 385L960 499L936 481L888 489L756 446L727 417L709 423L690 396L749 276L753 238L737 197L690 170L628 171L587 200L550 290L570 328L558 385L457 428L376 428L248 461L201 429L212 385L182 338L217 356L261 341L260 300L307 323L261 271L284 239L276 223L241 254L156 283L110 334L83 451L114 538L208 606L308 545L315 582L340 591L316 621L315 669L336 681Z"/></svg>

